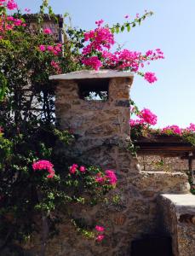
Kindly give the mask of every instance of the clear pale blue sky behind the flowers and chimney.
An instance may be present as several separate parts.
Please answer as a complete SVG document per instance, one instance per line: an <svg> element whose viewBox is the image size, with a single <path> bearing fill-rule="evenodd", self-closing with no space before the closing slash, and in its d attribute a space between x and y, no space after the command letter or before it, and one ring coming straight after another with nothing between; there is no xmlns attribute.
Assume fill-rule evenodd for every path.
<svg viewBox="0 0 195 256"><path fill-rule="evenodd" d="M20 8L36 12L41 0L17 0ZM140 27L117 37L119 44L132 50L160 48L165 60L155 61L148 71L158 82L147 84L135 76L131 97L140 108L158 115L158 126L195 123L195 0L50 0L54 13L68 12L72 25L91 29L95 20L123 22L124 15L135 17L144 10L154 15Z"/></svg>

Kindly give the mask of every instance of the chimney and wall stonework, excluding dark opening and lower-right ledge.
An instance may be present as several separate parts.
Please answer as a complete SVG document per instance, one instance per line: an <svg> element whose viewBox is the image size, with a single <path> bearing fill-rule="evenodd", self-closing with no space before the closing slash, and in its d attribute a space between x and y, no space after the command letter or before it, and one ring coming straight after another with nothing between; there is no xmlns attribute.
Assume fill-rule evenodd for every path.
<svg viewBox="0 0 195 256"><path fill-rule="evenodd" d="M129 90L132 73L113 71L76 72L53 76L58 81L56 117L60 129L73 131L76 141L63 148L71 159L85 164L114 169L118 176L117 202L90 207L75 207L75 216L83 216L88 223L94 220L106 227L106 238L97 243L77 234L72 224L64 220L59 235L48 241L48 256L126 256L131 241L144 235L162 232L159 225L157 198L161 193L188 193L189 185L183 172L141 172L138 160L128 151ZM108 79L108 100L84 101L79 96L79 82L89 79ZM91 80L92 81L92 80ZM40 241L33 241L32 255L38 254ZM41 255L40 255L41 256Z"/></svg>

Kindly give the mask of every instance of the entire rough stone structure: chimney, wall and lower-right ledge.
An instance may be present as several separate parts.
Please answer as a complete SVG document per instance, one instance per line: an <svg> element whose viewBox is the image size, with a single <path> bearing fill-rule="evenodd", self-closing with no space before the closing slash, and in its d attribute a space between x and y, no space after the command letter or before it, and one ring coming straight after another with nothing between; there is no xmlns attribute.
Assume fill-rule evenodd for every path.
<svg viewBox="0 0 195 256"><path fill-rule="evenodd" d="M47 255L152 256L154 254L147 254L147 251L139 254L139 241L149 238L147 243L152 242L155 247L158 241L163 241L162 237L172 237L173 255L195 255L195 226L192 224L195 207L191 208L190 220L182 218L181 223L181 212L185 215L187 207L184 210L175 207L174 195L186 196L186 200L192 196L188 195L186 173L142 172L138 160L128 150L129 93L133 74L81 71L54 75L50 79L58 83L55 102L58 125L62 130L71 130L76 137L73 145L57 147L57 150L86 164L104 170L114 169L118 185L111 194L118 195L119 201L77 211L78 217L85 216L88 222L96 218L106 226L106 238L102 243L77 235L70 224L61 225L59 235L49 241ZM161 194L171 194L172 197ZM190 200L195 205L194 199ZM190 226L189 233L187 225ZM158 244L158 256L171 255L162 245L162 242ZM142 243L142 247L145 246L146 242ZM146 247L146 250L150 248Z"/></svg>

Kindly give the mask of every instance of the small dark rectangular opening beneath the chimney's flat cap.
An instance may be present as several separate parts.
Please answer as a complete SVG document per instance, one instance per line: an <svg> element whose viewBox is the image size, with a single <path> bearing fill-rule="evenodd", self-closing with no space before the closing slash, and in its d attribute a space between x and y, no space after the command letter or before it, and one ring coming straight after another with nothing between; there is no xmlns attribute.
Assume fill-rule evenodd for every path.
<svg viewBox="0 0 195 256"><path fill-rule="evenodd" d="M77 80L80 99L106 102L109 96L109 81L110 79Z"/></svg>

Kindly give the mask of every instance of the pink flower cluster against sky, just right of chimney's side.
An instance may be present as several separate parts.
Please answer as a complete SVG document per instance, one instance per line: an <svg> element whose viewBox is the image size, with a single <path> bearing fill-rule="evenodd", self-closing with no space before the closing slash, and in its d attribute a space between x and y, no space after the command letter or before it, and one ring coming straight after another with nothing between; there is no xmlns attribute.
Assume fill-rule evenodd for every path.
<svg viewBox="0 0 195 256"><path fill-rule="evenodd" d="M130 119L129 125L156 125L158 117L156 114L152 113L152 111L148 108L143 108L141 112L137 115L139 119Z"/></svg>

